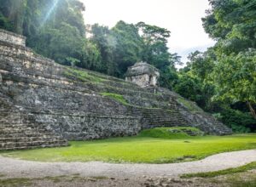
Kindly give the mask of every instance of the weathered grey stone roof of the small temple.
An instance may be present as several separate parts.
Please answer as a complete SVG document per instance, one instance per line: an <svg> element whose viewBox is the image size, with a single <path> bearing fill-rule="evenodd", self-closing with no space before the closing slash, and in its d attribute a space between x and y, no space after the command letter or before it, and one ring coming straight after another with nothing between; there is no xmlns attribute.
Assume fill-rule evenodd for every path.
<svg viewBox="0 0 256 187"><path fill-rule="evenodd" d="M132 65L128 68L125 76L126 77L133 77L139 76L143 74L148 74L151 76L159 77L159 71L153 65L149 65L146 62L137 62L135 65Z"/></svg>

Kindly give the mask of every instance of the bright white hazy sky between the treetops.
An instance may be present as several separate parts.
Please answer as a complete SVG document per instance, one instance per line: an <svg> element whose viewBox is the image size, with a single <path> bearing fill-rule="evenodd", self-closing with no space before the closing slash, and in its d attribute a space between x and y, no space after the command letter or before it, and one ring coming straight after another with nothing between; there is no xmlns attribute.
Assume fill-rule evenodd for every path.
<svg viewBox="0 0 256 187"><path fill-rule="evenodd" d="M85 24L99 23L112 27L119 20L127 23L143 21L171 31L170 52L182 56L205 50L214 42L203 30L201 18L209 8L207 0L81 0L84 2Z"/></svg>

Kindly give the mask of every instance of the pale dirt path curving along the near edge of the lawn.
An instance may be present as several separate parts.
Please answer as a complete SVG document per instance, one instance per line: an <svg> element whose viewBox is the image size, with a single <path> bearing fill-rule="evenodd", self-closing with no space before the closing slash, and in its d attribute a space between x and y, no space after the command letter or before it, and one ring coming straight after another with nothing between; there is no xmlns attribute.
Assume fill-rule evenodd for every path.
<svg viewBox="0 0 256 187"><path fill-rule="evenodd" d="M241 150L208 156L201 161L171 164L113 164L90 162L39 162L22 161L0 156L0 173L7 177L40 178L80 174L81 176L107 176L132 178L143 176L176 177L183 173L199 173L239 167L256 161L256 150Z"/></svg>

